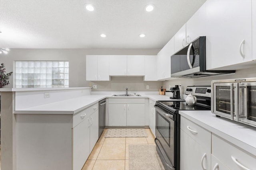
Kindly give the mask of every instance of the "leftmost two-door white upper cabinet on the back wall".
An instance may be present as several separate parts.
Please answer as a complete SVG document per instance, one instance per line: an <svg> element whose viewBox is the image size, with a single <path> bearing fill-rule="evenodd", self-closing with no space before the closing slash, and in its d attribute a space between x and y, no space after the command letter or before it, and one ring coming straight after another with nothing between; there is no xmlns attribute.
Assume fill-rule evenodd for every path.
<svg viewBox="0 0 256 170"><path fill-rule="evenodd" d="M109 81L108 55L86 55L86 80Z"/></svg>

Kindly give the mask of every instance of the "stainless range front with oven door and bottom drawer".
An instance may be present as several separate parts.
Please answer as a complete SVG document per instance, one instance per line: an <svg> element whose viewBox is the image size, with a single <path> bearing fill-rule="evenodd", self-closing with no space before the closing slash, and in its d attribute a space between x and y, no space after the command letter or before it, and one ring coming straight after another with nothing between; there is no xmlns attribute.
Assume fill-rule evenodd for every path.
<svg viewBox="0 0 256 170"><path fill-rule="evenodd" d="M156 107L156 149L166 170L174 168L174 114Z"/></svg>

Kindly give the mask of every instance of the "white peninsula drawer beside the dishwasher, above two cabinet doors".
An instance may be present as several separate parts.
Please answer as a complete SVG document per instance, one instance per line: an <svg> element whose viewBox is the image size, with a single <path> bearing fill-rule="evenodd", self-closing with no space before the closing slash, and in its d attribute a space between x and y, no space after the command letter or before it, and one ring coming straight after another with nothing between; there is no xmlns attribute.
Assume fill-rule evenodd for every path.
<svg viewBox="0 0 256 170"><path fill-rule="evenodd" d="M83 120L86 119L86 117L89 117L97 109L99 109L98 103L96 103L96 104L94 104L94 105L76 113L73 116L73 127L75 127L76 125L81 123Z"/></svg>

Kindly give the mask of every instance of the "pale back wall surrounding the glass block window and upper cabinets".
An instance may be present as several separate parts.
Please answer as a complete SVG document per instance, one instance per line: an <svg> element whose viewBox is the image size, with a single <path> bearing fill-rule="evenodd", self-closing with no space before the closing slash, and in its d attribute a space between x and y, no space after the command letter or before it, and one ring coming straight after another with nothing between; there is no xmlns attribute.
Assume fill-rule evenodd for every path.
<svg viewBox="0 0 256 170"><path fill-rule="evenodd" d="M159 51L160 49L10 49L8 55L0 54L0 63L5 64L6 72L11 72L13 61L69 61L69 86L88 87L90 82L85 79L86 55L157 55ZM12 76L9 81L10 84L5 88L12 88ZM99 85L97 91L122 91L127 84L130 84L131 89L136 87L138 91L146 91L146 85L162 86L162 82L144 83L142 77L115 77L110 82L92 82L92 85ZM150 88L148 91L155 90Z"/></svg>

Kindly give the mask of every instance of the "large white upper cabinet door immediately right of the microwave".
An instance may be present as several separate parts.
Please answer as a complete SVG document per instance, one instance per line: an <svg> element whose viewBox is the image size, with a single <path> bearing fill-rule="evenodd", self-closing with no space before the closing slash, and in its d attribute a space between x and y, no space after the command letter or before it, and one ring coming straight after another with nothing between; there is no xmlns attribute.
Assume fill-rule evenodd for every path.
<svg viewBox="0 0 256 170"><path fill-rule="evenodd" d="M207 0L205 3L206 69L251 61L252 1Z"/></svg>

